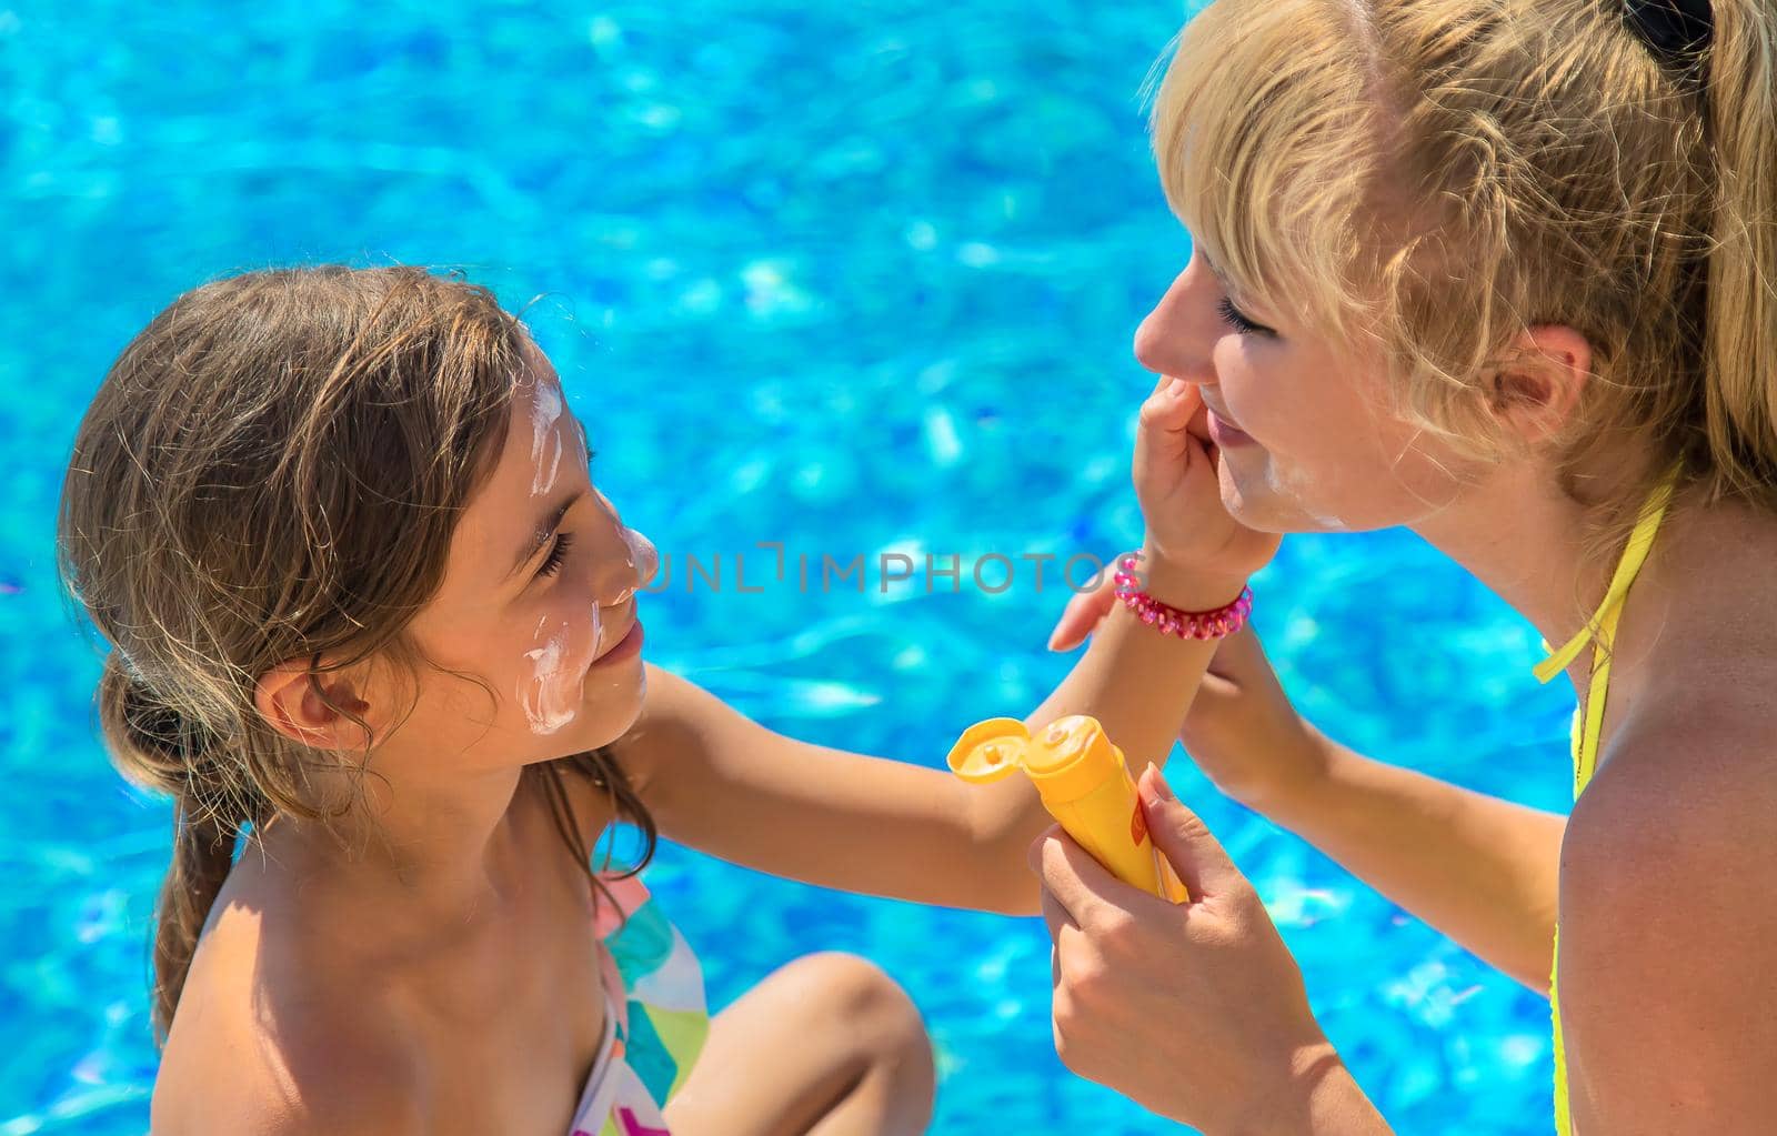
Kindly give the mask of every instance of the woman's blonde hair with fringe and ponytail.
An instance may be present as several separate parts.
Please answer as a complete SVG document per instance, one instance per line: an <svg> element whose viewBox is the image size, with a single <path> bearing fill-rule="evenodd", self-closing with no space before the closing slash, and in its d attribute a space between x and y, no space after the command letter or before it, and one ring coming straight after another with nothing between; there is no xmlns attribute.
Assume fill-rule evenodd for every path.
<svg viewBox="0 0 1777 1136"><path fill-rule="evenodd" d="M1461 452L1509 452L1491 379L1521 331L1583 332L1594 382L1557 457L1605 542L1672 464L1777 508L1777 12L1717 0L1685 69L1626 11L1219 0L1153 110L1217 267L1379 348L1397 412ZM1624 453L1646 462L1580 484Z"/></svg>

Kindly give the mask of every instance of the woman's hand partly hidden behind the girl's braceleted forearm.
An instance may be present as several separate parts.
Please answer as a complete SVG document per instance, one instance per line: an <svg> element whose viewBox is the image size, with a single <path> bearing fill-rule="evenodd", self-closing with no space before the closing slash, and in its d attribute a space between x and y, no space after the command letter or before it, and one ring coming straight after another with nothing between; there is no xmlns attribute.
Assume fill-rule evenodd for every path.
<svg viewBox="0 0 1777 1136"><path fill-rule="evenodd" d="M1114 604L1114 581L1070 599L1048 649L1079 647ZM1327 764L1326 738L1295 713L1251 626L1217 644L1178 740L1217 789L1260 812L1310 789Z"/></svg>

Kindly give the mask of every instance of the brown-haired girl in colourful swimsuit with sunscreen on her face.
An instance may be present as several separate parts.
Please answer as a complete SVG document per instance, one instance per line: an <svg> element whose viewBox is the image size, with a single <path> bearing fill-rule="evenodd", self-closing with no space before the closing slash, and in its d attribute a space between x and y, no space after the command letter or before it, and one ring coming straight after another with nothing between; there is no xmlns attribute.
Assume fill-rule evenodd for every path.
<svg viewBox="0 0 1777 1136"><path fill-rule="evenodd" d="M1137 484L1167 517L1148 588L1201 612L1274 540L1205 492L1194 414L1182 384L1155 393ZM82 423L60 555L112 647L107 743L176 807L160 1136L920 1131L904 994L816 956L709 1022L688 944L634 878L592 875L617 821L1036 910L1048 821L1024 779L801 745L643 663L654 551L485 290L316 268L179 297ZM1093 713L1164 757L1210 651L1127 610L1031 724Z"/></svg>

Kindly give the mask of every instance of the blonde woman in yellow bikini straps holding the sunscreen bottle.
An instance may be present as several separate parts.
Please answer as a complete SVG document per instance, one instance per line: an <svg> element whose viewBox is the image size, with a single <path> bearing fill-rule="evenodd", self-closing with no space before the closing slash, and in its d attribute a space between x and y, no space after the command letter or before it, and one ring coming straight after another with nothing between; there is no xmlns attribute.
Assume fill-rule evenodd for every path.
<svg viewBox="0 0 1777 1136"><path fill-rule="evenodd" d="M1153 126L1196 251L1136 350L1201 391L1228 512L1413 528L1582 702L1571 818L1336 745L1251 635L1187 750L1551 996L1562 1131L1777 1131L1777 11L1221 0ZM1251 885L1144 784L1199 901L1040 844L1064 1060L1205 1132L1388 1131Z"/></svg>

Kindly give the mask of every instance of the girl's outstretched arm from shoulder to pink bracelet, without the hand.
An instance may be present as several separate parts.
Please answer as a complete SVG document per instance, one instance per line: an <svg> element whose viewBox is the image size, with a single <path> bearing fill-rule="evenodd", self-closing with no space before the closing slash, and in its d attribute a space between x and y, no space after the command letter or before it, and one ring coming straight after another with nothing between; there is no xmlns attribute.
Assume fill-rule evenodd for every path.
<svg viewBox="0 0 1777 1136"><path fill-rule="evenodd" d="M1240 590L1239 580L1148 565L1148 590L1173 606L1214 608ZM1139 773L1166 759L1212 651L1118 608L1025 722L1093 715ZM954 725L960 734L970 722ZM1025 850L1052 821L1024 777L968 786L949 772L796 741L654 667L618 756L663 834L725 860L919 903L1038 912Z"/></svg>

